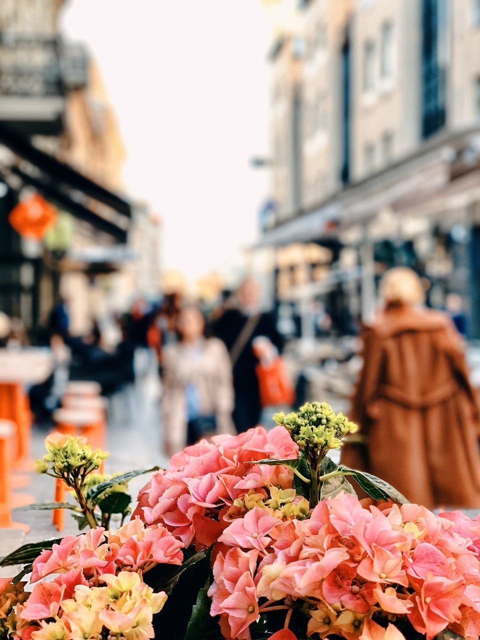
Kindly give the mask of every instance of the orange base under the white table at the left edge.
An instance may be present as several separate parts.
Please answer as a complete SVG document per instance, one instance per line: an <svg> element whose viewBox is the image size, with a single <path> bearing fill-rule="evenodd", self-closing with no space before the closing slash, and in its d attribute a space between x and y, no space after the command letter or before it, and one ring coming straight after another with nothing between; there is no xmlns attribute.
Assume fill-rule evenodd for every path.
<svg viewBox="0 0 480 640"><path fill-rule="evenodd" d="M28 461L31 444L30 404L19 383L0 383L0 419L12 420L16 425L15 466L27 466L33 470L33 463Z"/></svg>

